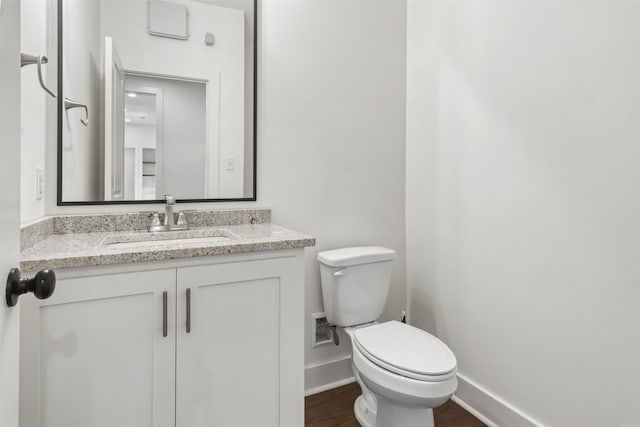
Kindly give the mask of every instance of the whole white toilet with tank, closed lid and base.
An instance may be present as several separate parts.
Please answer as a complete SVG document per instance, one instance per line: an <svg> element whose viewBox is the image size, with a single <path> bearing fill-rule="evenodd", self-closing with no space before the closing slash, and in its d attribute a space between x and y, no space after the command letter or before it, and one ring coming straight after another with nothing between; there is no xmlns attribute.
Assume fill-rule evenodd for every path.
<svg viewBox="0 0 640 427"><path fill-rule="evenodd" d="M345 328L353 373L362 388L354 405L365 427L433 426L433 408L458 387L456 358L442 341L413 326L378 323L395 251L377 246L318 253L327 321Z"/></svg>

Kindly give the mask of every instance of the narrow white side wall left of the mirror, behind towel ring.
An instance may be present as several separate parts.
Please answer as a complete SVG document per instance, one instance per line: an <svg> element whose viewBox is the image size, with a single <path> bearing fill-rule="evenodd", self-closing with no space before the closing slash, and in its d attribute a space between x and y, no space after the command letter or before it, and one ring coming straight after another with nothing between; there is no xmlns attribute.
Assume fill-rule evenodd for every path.
<svg viewBox="0 0 640 427"><path fill-rule="evenodd" d="M20 5L20 49L30 55L51 56L47 52L47 0L22 0ZM54 58L51 58L52 60ZM48 69L55 61L43 65L47 81ZM55 104L38 83L37 65L20 72L20 221L28 223L44 216L45 199L36 199L36 168L45 166L46 103ZM53 89L55 91L55 87Z"/></svg>

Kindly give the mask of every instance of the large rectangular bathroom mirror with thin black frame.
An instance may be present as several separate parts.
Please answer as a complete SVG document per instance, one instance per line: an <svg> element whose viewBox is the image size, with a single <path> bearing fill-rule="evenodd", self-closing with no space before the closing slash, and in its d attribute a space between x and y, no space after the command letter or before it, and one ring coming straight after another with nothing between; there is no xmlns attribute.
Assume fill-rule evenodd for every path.
<svg viewBox="0 0 640 427"><path fill-rule="evenodd" d="M256 200L257 0L58 0L58 204Z"/></svg>

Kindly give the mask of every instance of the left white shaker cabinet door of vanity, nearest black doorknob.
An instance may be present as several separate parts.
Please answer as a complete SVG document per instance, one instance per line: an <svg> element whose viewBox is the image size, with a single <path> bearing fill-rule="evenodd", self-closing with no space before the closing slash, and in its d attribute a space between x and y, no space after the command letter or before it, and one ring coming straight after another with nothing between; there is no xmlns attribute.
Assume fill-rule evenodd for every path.
<svg viewBox="0 0 640 427"><path fill-rule="evenodd" d="M173 426L175 280L175 269L59 279L25 307L21 425Z"/></svg>

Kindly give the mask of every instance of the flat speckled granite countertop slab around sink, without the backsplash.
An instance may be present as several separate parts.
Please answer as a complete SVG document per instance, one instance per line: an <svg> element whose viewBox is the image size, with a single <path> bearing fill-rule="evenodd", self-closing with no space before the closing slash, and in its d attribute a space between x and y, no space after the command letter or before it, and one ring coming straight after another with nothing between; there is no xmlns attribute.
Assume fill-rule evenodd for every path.
<svg viewBox="0 0 640 427"><path fill-rule="evenodd" d="M212 236L222 237L216 240ZM22 251L21 270L127 264L315 245L315 238L271 223L207 225L191 227L189 231L182 232L122 230L53 233L41 237Z"/></svg>

